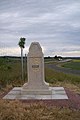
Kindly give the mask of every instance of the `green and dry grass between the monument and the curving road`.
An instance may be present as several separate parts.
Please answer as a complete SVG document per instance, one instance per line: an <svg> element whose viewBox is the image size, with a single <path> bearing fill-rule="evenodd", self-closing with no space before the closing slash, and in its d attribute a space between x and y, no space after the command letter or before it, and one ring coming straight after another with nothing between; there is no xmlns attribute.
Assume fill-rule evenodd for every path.
<svg viewBox="0 0 80 120"><path fill-rule="evenodd" d="M45 80L50 86L63 86L80 94L80 76L45 68Z"/></svg>

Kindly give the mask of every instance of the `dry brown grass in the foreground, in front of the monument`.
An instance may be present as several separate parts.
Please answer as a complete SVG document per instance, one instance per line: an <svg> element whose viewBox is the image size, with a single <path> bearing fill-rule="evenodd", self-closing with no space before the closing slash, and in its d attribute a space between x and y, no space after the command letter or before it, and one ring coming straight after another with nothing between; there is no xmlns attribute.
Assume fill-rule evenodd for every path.
<svg viewBox="0 0 80 120"><path fill-rule="evenodd" d="M80 120L80 111L0 100L0 120Z"/></svg>

